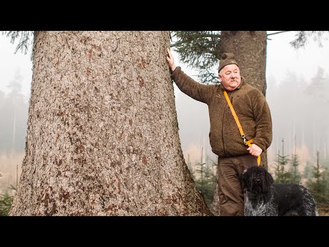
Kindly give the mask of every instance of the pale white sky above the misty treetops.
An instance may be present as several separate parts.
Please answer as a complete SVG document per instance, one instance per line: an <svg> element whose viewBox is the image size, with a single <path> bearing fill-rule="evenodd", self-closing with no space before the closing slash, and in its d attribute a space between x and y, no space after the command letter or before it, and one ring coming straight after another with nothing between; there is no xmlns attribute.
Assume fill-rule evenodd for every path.
<svg viewBox="0 0 329 247"><path fill-rule="evenodd" d="M293 32L286 32L269 36L271 40L267 40L267 78L276 78L276 82L280 83L288 71L291 71L309 80L315 75L319 65L328 74L329 41L325 40L323 47L319 47L317 42L310 40L305 48L296 50L289 44L294 35ZM21 93L29 95L32 81L31 51L28 51L26 55L21 51L14 54L15 47L16 43L10 43L10 38L0 35L0 90L8 93L10 91L8 84L13 80L14 74L19 71L23 77ZM190 75L196 74L193 69L187 68L180 62L177 54L174 56L176 65L180 65Z"/></svg>

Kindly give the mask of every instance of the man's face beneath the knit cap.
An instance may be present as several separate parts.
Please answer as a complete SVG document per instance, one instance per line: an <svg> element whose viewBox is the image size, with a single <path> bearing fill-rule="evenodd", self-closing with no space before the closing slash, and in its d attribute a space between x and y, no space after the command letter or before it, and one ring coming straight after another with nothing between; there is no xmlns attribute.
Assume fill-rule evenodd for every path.
<svg viewBox="0 0 329 247"><path fill-rule="evenodd" d="M219 71L219 80L228 90L234 91L241 83L240 69L236 64L228 64Z"/></svg>

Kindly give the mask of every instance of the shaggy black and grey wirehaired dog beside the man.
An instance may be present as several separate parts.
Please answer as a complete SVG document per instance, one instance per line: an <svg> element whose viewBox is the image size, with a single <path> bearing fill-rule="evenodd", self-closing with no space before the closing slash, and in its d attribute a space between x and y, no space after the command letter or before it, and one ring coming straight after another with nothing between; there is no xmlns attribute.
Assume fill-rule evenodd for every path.
<svg viewBox="0 0 329 247"><path fill-rule="evenodd" d="M263 167L241 174L245 216L317 216L317 204L308 189L297 184L273 184Z"/></svg>

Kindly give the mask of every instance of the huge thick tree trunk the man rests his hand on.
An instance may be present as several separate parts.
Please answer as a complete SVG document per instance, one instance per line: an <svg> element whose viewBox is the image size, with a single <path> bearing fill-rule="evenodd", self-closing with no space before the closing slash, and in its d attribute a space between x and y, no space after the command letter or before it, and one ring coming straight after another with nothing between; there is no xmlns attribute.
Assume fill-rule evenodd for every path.
<svg viewBox="0 0 329 247"><path fill-rule="evenodd" d="M210 215L180 147L169 32L37 32L9 215Z"/></svg>

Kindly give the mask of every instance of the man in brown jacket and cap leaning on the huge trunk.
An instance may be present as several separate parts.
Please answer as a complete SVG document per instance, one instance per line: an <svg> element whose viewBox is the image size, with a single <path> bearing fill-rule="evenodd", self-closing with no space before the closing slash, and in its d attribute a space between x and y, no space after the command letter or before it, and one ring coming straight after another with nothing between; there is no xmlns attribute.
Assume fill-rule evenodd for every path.
<svg viewBox="0 0 329 247"><path fill-rule="evenodd" d="M167 62L171 79L180 91L208 105L210 118L210 146L218 155L217 183L219 188L220 215L243 216L243 191L239 176L244 169L257 164L257 157L269 148L272 141L272 121L266 99L258 89L241 77L234 54L224 53L219 61L220 84L200 84L175 66L170 49ZM252 145L245 145L223 91L243 128L245 138ZM250 155L252 154L252 155Z"/></svg>

